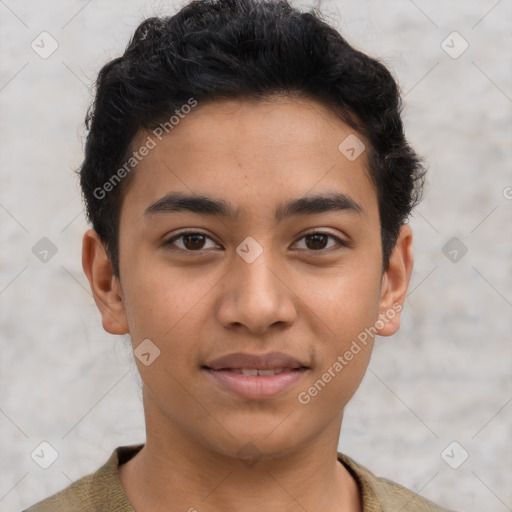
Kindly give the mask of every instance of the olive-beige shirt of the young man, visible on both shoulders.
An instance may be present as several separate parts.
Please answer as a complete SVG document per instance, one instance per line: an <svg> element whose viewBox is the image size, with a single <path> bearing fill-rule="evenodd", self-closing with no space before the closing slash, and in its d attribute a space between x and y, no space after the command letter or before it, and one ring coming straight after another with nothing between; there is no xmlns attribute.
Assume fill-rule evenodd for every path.
<svg viewBox="0 0 512 512"><path fill-rule="evenodd" d="M24 512L135 512L128 501L118 467L144 445L120 446L96 472L33 505ZM338 460L356 479L363 499L363 512L450 512L401 485L378 478L351 458L338 453Z"/></svg>

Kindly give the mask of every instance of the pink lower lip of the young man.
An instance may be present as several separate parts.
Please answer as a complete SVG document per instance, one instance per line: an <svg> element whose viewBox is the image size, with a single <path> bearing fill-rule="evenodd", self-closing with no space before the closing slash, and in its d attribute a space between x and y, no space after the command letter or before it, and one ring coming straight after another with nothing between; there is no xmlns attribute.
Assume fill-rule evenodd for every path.
<svg viewBox="0 0 512 512"><path fill-rule="evenodd" d="M295 386L306 373L306 368L284 371L277 375L254 376L228 370L204 370L221 387L247 400L273 398Z"/></svg>

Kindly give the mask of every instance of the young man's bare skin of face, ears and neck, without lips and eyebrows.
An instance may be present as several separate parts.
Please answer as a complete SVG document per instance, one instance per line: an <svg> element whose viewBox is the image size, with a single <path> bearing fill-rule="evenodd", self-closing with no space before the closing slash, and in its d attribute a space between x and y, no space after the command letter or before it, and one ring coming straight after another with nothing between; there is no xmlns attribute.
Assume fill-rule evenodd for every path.
<svg viewBox="0 0 512 512"><path fill-rule="evenodd" d="M103 327L129 333L134 348L150 339L160 349L149 366L136 359L147 440L119 468L138 512L362 510L357 483L336 450L344 407L373 340L307 405L297 399L379 315L403 304L412 271L408 226L382 271L366 155L349 161L338 150L351 133L331 110L305 98L199 104L140 162L127 187L119 279L96 233L85 233L83 267ZM145 213L176 191L232 203L239 217ZM345 194L360 211L276 221L283 201L327 193ZM166 244L184 228L207 238ZM330 236L305 238L313 230ZM236 252L248 236L263 250L252 263ZM378 334L391 335L399 324L397 312ZM242 399L201 369L232 352L274 350L309 369L270 399ZM247 443L260 456L251 466L238 454Z"/></svg>

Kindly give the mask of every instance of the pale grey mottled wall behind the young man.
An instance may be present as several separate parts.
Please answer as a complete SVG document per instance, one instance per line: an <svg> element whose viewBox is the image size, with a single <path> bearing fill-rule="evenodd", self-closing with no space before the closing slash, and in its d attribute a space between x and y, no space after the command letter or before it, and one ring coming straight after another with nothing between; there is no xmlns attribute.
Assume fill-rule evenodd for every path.
<svg viewBox="0 0 512 512"><path fill-rule="evenodd" d="M176 8L0 0L2 511L144 440L128 339L102 331L82 273L86 223L73 169L100 66L144 17ZM430 167L411 220L416 265L402 329L377 341L340 449L455 510L512 510L512 1L339 0L322 10L392 69L408 137ZM59 45L46 59L31 48L43 31ZM462 48L446 39L453 31L469 44L456 59L442 48ZM32 251L43 237L57 249L46 262ZM443 252L452 237L458 247ZM46 470L30 457L42 441L58 452ZM469 454L457 469L441 456L452 441L452 465Z"/></svg>

